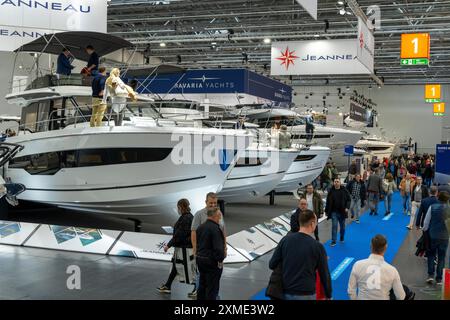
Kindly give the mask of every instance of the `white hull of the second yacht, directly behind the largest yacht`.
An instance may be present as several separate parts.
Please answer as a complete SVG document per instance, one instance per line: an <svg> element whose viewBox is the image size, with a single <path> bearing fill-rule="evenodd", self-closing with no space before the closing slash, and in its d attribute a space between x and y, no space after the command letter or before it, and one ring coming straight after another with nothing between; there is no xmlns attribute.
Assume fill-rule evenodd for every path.
<svg viewBox="0 0 450 320"><path fill-rule="evenodd" d="M265 196L274 190L298 155L298 149L249 147L242 158L268 158L272 161L262 165L240 166L238 160L225 182L219 198L225 202L247 202Z"/></svg>

